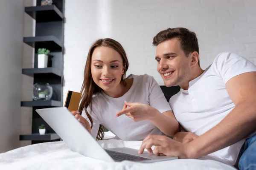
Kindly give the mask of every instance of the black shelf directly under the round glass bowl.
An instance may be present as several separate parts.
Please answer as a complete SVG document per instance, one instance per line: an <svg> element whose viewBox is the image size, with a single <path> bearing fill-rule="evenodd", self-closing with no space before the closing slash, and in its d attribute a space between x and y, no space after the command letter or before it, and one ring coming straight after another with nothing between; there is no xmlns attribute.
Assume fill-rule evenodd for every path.
<svg viewBox="0 0 256 170"><path fill-rule="evenodd" d="M52 106L61 107L61 102L56 100L34 100L34 101L22 101L21 106L24 107L37 107L37 106Z"/></svg>

